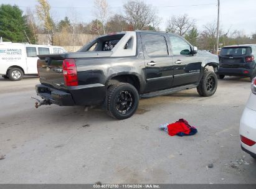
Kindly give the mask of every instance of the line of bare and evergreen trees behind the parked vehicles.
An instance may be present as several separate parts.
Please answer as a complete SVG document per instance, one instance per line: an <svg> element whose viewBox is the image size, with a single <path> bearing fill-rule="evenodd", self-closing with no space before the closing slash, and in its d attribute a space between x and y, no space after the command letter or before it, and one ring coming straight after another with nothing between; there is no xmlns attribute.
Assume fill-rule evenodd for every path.
<svg viewBox="0 0 256 189"><path fill-rule="evenodd" d="M158 10L145 1L127 1L123 4L123 14L113 13L111 10L107 0L95 0L92 11L95 19L85 23L75 10L69 11L72 12L69 17L54 21L47 0L37 0L36 10L28 8L26 12L22 12L18 6L1 4L0 36L4 41L38 44L39 35L43 34L52 45L83 45L88 41L77 40L78 35L95 36L125 30L159 31L159 25L163 22L157 14ZM215 49L216 21L203 25L201 30L187 14L171 16L166 22L166 32L179 34L200 49ZM245 35L240 30L224 30L220 27L219 36L222 46L256 43L256 32Z"/></svg>

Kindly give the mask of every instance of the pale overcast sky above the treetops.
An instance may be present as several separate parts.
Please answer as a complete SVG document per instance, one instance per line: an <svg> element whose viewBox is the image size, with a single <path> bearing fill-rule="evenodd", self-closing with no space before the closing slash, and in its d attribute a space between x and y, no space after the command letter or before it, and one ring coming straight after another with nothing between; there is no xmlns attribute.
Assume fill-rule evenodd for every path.
<svg viewBox="0 0 256 189"><path fill-rule="evenodd" d="M60 21L65 16L75 17L79 21L90 22L93 16L93 0L48 0L51 13L55 21ZM112 13L122 13L121 8L126 0L108 0ZM217 21L217 0L145 0L146 3L156 7L158 16L163 20L161 30L166 27L166 20L173 15L187 14L196 20L196 25L202 29L202 25ZM22 10L27 7L35 9L36 0L15 1L0 0L0 4L16 4ZM194 6L192 6L194 5ZM196 6L197 5L197 6ZM74 8L68 8L74 7ZM241 30L250 35L256 32L256 0L220 0L220 25L224 30Z"/></svg>

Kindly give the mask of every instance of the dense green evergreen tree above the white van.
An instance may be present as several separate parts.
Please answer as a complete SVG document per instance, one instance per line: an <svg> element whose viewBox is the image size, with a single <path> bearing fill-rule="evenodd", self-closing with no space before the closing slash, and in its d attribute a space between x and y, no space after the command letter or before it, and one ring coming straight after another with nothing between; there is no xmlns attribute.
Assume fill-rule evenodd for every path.
<svg viewBox="0 0 256 189"><path fill-rule="evenodd" d="M0 36L4 41L30 42L31 30L26 25L26 17L18 6L1 4Z"/></svg>

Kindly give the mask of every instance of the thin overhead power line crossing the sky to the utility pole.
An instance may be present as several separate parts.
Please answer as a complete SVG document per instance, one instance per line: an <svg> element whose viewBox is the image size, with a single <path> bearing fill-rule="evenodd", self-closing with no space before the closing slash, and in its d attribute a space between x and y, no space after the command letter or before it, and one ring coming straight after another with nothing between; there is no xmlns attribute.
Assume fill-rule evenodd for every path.
<svg viewBox="0 0 256 189"><path fill-rule="evenodd" d="M217 5L215 3L211 4L190 4L190 5L175 5L175 6L152 6L154 8L168 8L168 7L192 7L192 6L209 6L209 5ZM31 7L31 6L19 6L19 7ZM51 6L53 9L92 9L93 7L56 7L56 6ZM123 9L123 7L111 7L110 9Z"/></svg>

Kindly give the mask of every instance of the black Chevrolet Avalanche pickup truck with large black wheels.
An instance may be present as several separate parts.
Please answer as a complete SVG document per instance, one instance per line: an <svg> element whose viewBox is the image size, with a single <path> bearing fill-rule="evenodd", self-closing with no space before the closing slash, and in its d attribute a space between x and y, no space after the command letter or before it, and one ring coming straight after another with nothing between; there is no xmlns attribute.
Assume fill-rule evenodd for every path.
<svg viewBox="0 0 256 189"><path fill-rule="evenodd" d="M39 55L42 104L102 104L110 116L130 118L140 98L197 88L217 89L219 58L197 50L179 35L136 30L98 37L75 53Z"/></svg>

